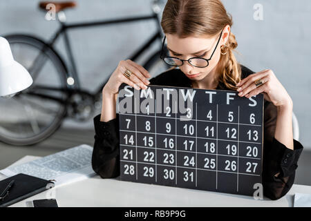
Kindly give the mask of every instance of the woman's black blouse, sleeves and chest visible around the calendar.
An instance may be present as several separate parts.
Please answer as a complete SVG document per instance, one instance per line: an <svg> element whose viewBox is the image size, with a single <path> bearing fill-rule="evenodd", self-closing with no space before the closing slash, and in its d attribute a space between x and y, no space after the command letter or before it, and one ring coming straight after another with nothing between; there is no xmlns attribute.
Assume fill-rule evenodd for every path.
<svg viewBox="0 0 311 221"><path fill-rule="evenodd" d="M242 79L254 73L241 65ZM152 85L191 87L191 80L180 69L171 68L149 80ZM225 89L218 85L217 89ZM263 195L272 200L282 198L294 184L297 162L303 146L294 140L294 150L287 148L274 137L276 106L264 102L263 140ZM120 175L119 116L109 122L101 122L100 115L94 117L95 143L92 166L102 178ZM276 173L279 175L275 176Z"/></svg>

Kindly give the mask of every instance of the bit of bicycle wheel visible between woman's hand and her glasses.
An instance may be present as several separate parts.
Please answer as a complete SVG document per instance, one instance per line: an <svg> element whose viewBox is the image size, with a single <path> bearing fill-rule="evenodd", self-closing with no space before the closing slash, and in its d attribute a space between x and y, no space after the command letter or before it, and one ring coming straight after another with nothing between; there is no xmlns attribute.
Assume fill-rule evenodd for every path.
<svg viewBox="0 0 311 221"><path fill-rule="evenodd" d="M152 77L156 77L163 73L165 70L171 68L166 64L162 59L160 59L160 51L155 52L143 65L146 68Z"/></svg>

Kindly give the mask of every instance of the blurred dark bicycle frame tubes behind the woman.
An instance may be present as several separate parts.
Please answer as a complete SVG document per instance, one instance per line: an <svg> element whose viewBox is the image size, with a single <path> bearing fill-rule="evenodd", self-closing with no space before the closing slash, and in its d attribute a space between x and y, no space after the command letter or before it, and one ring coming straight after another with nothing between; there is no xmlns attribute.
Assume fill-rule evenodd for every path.
<svg viewBox="0 0 311 221"><path fill-rule="evenodd" d="M67 77L73 77L75 80L75 89L79 90L81 88L80 81L79 81L79 76L77 73L77 66L75 64L75 59L73 56L73 51L70 46L70 40L68 38L68 29L73 29L73 28L86 28L86 27L92 27L92 26L106 26L106 25L112 25L112 24L117 24L117 23L129 23L129 22L135 22L135 21L142 21L142 20L149 20L149 19L154 19L156 20L156 23L158 25L158 31L156 34L154 34L148 41L145 43L143 46L141 46L138 50L136 50L133 55L129 57L129 59L135 61L142 52L147 50L151 44L153 44L156 39L160 39L163 37L160 23L159 23L159 18L158 14L153 13L153 15L150 16L142 16L142 17L131 17L131 18L124 18L124 19L113 19L113 20L102 20L102 21L93 21L93 22L86 22L86 23L71 23L67 24L62 21L59 21L61 23L61 27L57 30L55 35L50 39L48 42L48 46L53 48L53 45L55 44L55 41L59 38L61 34L64 34L64 43L65 43L65 49L66 49L66 54L68 56L69 62L70 62L70 70L67 73ZM106 79L107 81L108 79ZM104 81L96 90L95 90L95 95L97 93L101 93L102 88L106 84L106 81Z"/></svg>

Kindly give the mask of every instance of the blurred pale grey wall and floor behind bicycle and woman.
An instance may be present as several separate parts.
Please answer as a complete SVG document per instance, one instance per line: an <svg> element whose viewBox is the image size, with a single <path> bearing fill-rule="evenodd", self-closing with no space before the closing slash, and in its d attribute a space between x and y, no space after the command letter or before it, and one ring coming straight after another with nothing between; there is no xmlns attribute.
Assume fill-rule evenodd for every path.
<svg viewBox="0 0 311 221"><path fill-rule="evenodd" d="M78 0L76 3L75 8L65 10L67 23L138 17L153 12L152 0ZM165 3L165 0L160 3L159 15ZM292 97L299 122L299 141L304 146L295 183L311 185L311 3L309 0L295 3L290 0L223 0L223 3L233 17L238 61L255 72L272 69ZM47 21L46 11L38 5L37 0L1 0L0 35L23 33L48 41L59 23ZM94 92L118 62L129 58L157 28L155 21L148 20L68 30L82 88ZM138 64L144 64L160 46L161 41L152 44L138 59ZM55 42L55 50L68 63L62 37ZM2 118L6 118L5 109L0 110ZM93 146L92 117L99 113L100 106L97 106L85 122L65 119L56 133L37 144L16 146L0 142L0 169L24 155L45 156L82 143Z"/></svg>

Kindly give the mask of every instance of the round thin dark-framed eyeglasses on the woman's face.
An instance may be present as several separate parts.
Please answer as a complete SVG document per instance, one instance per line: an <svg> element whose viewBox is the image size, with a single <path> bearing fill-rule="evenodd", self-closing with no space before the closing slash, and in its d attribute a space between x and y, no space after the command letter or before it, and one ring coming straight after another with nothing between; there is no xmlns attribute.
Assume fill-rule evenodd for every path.
<svg viewBox="0 0 311 221"><path fill-rule="evenodd" d="M211 57L213 57L214 52L218 46L218 43L220 41L220 37L223 34L223 30L221 30L220 32L220 36L219 39L217 41L216 47L214 48L214 51L211 53ZM170 66L182 66L182 64L184 64L184 61L188 61L189 64L191 64L191 66L194 66L196 68L205 68L207 66L209 66L209 61L211 60L211 57L209 57L209 59L205 59L202 57L191 57L187 60L183 60L183 59L179 59L178 57L168 57L168 56L163 56L163 48L164 48L164 41L166 39L166 36L163 39L163 44L162 44L162 50L161 50L161 54L160 54L160 58L168 65Z"/></svg>

